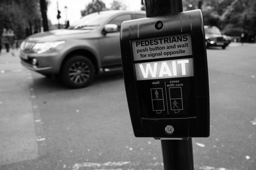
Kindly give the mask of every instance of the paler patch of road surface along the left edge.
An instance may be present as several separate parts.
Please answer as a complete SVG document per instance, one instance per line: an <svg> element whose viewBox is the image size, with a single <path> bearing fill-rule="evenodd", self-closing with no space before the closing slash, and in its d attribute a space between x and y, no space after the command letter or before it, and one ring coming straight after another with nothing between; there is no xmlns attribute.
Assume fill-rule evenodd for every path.
<svg viewBox="0 0 256 170"><path fill-rule="evenodd" d="M22 67L18 56L2 49L0 79L0 165L37 158L31 73Z"/></svg>

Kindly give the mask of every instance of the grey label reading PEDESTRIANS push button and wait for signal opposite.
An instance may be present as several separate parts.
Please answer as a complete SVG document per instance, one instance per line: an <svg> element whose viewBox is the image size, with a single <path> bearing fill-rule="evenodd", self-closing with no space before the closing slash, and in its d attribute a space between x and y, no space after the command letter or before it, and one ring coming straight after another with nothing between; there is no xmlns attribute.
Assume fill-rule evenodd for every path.
<svg viewBox="0 0 256 170"><path fill-rule="evenodd" d="M192 55L190 33L132 41L134 61Z"/></svg>

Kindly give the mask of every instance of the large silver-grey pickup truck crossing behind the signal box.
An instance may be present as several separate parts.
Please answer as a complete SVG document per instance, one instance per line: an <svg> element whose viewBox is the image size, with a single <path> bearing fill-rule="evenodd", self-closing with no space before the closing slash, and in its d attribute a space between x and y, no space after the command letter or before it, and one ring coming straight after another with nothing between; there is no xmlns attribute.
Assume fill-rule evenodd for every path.
<svg viewBox="0 0 256 170"><path fill-rule="evenodd" d="M45 76L58 75L69 87L88 86L95 74L122 68L121 24L145 17L143 11L96 12L68 29L31 35L20 45L21 63Z"/></svg>

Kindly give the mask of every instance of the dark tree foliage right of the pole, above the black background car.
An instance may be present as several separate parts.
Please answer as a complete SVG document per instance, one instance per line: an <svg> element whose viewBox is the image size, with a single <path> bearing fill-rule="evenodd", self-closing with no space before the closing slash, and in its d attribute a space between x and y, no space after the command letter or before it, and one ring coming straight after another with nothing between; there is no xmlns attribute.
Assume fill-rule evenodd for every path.
<svg viewBox="0 0 256 170"><path fill-rule="evenodd" d="M183 0L183 9L198 9L200 0ZM223 33L256 35L255 0L202 0L204 25L216 25Z"/></svg>

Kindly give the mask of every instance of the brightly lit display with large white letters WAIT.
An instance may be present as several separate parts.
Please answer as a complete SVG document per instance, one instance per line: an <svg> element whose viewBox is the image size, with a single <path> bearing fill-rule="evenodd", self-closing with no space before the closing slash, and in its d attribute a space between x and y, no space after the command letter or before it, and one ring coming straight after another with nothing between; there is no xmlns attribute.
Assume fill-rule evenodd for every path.
<svg viewBox="0 0 256 170"><path fill-rule="evenodd" d="M135 64L137 80L194 76L193 59L179 59Z"/></svg>

